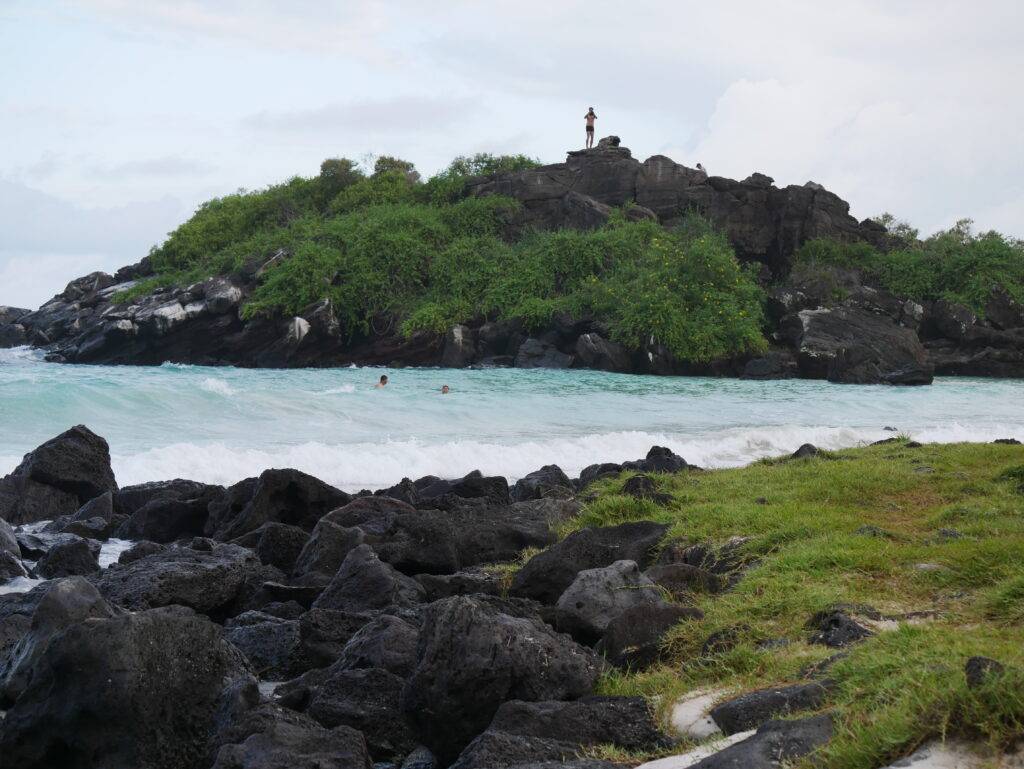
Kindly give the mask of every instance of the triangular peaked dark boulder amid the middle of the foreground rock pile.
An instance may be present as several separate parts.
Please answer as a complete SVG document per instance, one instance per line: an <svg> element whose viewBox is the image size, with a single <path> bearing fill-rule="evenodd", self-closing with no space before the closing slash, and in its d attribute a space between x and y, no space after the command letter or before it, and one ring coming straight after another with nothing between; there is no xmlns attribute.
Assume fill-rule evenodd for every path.
<svg viewBox="0 0 1024 769"><path fill-rule="evenodd" d="M425 598L416 580L381 561L369 545L359 545L345 556L313 608L347 612L410 608Z"/></svg>

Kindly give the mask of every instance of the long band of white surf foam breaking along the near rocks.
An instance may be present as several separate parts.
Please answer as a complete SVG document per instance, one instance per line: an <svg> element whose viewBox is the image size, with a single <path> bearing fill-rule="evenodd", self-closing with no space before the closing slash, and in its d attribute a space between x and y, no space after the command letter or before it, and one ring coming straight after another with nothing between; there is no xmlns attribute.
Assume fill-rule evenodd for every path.
<svg viewBox="0 0 1024 769"><path fill-rule="evenodd" d="M174 443L132 455L116 455L114 469L121 483L175 477L229 484L263 470L290 467L340 488L381 488L402 477L455 477L470 470L522 477L542 465L557 464L569 475L597 462L642 458L652 445L668 446L701 467L737 467L763 457L788 454L802 443L822 448L863 445L893 433L879 428L779 426L731 428L698 435L664 432L607 432L499 443L461 439L443 442L391 440L329 444L303 442L276 447L242 448L223 442ZM988 441L1024 438L1024 430L967 428L952 424L909 431L922 441Z"/></svg>

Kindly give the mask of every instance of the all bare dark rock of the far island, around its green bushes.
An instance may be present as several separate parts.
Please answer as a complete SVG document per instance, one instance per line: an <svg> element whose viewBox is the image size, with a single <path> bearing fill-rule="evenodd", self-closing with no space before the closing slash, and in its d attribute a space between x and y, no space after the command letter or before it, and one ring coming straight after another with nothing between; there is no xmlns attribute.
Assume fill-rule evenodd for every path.
<svg viewBox="0 0 1024 769"><path fill-rule="evenodd" d="M701 212L728 234L740 259L764 265L773 286L772 350L693 365L675 359L654 338L627 349L594 318L565 314L541 331L481 318L443 335L408 338L382 318L375 332L350 337L326 300L293 317L244 319L242 304L268 267L289 258L284 251L254 255L229 275L155 289L129 302L117 295L152 275L147 259L114 275L93 272L38 310L0 307L0 346L32 344L58 361L133 365L574 367L890 384L926 384L935 374L1024 376L1024 307L1005 291L993 289L978 316L945 301L921 304L862 286L855 271L795 273L792 256L812 238L890 245L881 225L858 222L848 204L813 182L778 188L760 173L735 181L664 156L641 163L608 137L569 153L565 163L475 179L466 194L506 195L522 204L506 222L510 239L530 228L599 226L612 207L626 204L630 216L666 225Z"/></svg>

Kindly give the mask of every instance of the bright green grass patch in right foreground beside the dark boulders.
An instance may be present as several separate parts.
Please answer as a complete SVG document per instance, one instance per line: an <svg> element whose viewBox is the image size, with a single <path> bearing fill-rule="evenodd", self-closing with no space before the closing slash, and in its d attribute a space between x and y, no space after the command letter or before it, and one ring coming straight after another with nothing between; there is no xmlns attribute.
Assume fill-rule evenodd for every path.
<svg viewBox="0 0 1024 769"><path fill-rule="evenodd" d="M692 542L746 536L744 551L756 564L723 595L685 597L706 617L672 632L671 661L610 675L605 693L643 694L665 707L699 686L749 690L799 681L802 669L834 653L806 643L807 620L834 603L866 603L884 614L935 615L879 633L830 669L839 730L826 766L883 766L938 735L997 750L1024 733L1024 447L910 447L900 440L824 458L684 471L658 478L672 496L665 506L622 496L622 480L596 483L567 530L653 519ZM858 532L865 525L889 536ZM923 563L941 568L924 570ZM735 649L697 658L709 634L737 625L750 631ZM756 649L774 638L791 643ZM974 654L1016 671L969 690L964 664Z"/></svg>

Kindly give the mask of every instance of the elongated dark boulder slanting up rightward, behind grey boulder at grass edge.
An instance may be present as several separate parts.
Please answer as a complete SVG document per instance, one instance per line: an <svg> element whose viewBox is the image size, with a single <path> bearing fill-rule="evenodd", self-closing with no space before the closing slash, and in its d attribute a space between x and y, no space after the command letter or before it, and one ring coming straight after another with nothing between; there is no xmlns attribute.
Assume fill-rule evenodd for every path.
<svg viewBox="0 0 1024 769"><path fill-rule="evenodd" d="M584 569L608 566L615 561L650 563L651 552L668 526L653 521L584 528L530 558L516 573L511 592L543 603L554 603Z"/></svg>

